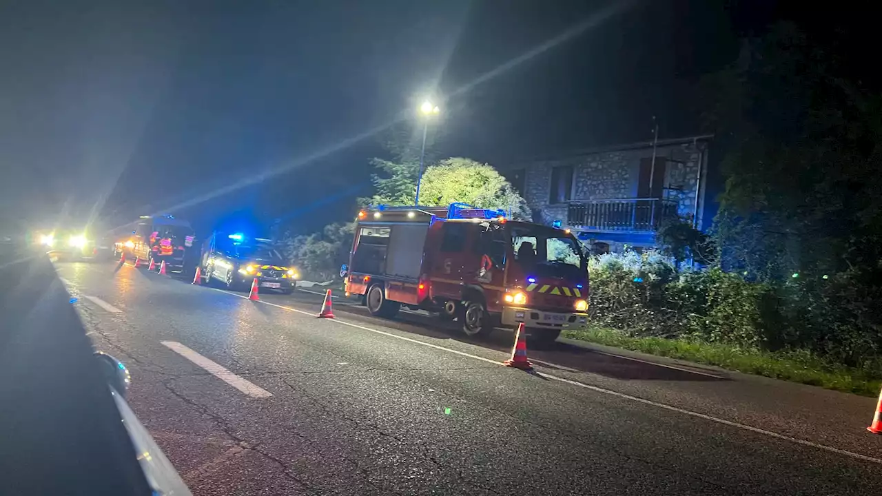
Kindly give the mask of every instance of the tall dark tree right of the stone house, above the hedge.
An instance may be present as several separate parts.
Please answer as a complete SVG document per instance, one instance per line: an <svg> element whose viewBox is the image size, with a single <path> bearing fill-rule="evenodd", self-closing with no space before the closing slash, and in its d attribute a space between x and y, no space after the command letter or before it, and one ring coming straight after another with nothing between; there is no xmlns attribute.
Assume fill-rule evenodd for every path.
<svg viewBox="0 0 882 496"><path fill-rule="evenodd" d="M714 226L724 267L761 280L878 269L882 94L844 60L848 34L781 23L703 81L725 149Z"/></svg>

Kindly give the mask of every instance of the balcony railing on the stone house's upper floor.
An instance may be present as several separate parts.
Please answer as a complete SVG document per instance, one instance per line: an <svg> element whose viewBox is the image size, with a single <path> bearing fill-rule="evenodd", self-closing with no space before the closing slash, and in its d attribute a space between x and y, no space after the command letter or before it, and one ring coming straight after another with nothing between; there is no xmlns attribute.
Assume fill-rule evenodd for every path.
<svg viewBox="0 0 882 496"><path fill-rule="evenodd" d="M676 218L669 199L595 199L571 202L566 221L571 228L602 231L655 231Z"/></svg>

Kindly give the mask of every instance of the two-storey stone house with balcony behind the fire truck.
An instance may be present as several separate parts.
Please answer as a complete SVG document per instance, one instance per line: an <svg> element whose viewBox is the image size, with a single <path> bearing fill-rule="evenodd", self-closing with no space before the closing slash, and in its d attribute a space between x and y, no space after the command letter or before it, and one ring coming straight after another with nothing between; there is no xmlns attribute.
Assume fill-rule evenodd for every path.
<svg viewBox="0 0 882 496"><path fill-rule="evenodd" d="M677 218L706 229L707 147L712 136L598 147L512 162L501 172L533 211L534 222L572 229L594 252L655 244Z"/></svg>

